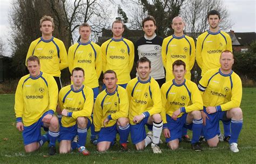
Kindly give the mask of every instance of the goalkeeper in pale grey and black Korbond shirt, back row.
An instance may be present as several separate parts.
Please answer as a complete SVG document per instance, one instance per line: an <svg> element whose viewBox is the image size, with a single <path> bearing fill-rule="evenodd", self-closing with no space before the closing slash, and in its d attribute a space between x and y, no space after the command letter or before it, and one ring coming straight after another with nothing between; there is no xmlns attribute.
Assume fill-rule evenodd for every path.
<svg viewBox="0 0 256 164"><path fill-rule="evenodd" d="M156 20L152 16L143 19L142 29L145 35L139 38L135 43L134 61L144 56L147 57L151 61L152 66L150 76L154 78L161 87L165 83L164 65L161 57L163 38L154 33L157 26Z"/></svg>

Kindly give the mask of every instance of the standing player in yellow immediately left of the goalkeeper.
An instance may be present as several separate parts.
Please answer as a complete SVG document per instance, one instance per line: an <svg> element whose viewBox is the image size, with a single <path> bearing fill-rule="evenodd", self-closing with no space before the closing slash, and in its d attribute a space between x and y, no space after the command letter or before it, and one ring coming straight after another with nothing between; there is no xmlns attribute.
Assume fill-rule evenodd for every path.
<svg viewBox="0 0 256 164"><path fill-rule="evenodd" d="M134 61L134 45L122 37L124 24L115 20L112 24L113 37L101 46L103 72L113 70L117 73L117 84L126 87L131 80L130 72Z"/></svg>

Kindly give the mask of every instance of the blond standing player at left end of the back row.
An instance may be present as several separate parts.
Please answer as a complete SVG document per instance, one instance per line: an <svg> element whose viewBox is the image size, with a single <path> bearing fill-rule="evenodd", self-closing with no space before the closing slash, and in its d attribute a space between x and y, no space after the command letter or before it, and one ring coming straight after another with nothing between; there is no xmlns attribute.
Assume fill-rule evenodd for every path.
<svg viewBox="0 0 256 164"><path fill-rule="evenodd" d="M26 59L30 56L37 56L41 60L41 71L53 76L58 90L60 90L62 88L60 71L68 67L68 55L62 40L52 36L54 28L55 24L52 17L43 16L40 19L42 37L30 44Z"/></svg>

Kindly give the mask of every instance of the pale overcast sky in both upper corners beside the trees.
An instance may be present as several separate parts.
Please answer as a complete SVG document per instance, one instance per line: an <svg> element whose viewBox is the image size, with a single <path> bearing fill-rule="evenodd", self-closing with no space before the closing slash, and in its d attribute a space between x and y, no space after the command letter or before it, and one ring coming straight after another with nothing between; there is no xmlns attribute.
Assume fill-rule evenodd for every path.
<svg viewBox="0 0 256 164"><path fill-rule="evenodd" d="M0 0L0 37L4 42L6 42L9 33L8 13L10 2L10 0ZM223 0L223 2L234 22L232 30L235 32L256 31L256 0Z"/></svg>

